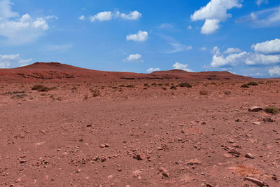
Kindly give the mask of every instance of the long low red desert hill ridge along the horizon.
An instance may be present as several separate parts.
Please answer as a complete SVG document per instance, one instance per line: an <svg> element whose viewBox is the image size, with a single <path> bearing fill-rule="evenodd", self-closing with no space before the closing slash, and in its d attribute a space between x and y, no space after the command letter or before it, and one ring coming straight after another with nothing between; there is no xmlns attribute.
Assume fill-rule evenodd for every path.
<svg viewBox="0 0 280 187"><path fill-rule="evenodd" d="M97 71L73 67L57 62L36 62L13 69L0 69L0 82L108 82L125 80L247 80L249 77L231 74L228 71L188 72L183 70L155 71L151 74L129 72Z"/></svg>

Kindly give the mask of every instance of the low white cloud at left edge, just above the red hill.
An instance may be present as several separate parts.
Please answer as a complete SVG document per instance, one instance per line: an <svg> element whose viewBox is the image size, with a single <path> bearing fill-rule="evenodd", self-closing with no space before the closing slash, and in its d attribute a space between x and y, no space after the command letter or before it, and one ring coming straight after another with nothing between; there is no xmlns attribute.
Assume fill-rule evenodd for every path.
<svg viewBox="0 0 280 187"><path fill-rule="evenodd" d="M20 54L17 55L0 55L0 68L12 68L27 65L32 59L23 60Z"/></svg>

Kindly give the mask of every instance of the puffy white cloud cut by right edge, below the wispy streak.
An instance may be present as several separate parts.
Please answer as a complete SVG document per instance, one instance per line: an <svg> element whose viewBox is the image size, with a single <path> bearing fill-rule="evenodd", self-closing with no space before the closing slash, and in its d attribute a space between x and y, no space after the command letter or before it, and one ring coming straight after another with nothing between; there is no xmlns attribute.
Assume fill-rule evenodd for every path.
<svg viewBox="0 0 280 187"><path fill-rule="evenodd" d="M274 39L271 41L253 44L252 48L253 50L255 50L256 53L280 53L280 39Z"/></svg>

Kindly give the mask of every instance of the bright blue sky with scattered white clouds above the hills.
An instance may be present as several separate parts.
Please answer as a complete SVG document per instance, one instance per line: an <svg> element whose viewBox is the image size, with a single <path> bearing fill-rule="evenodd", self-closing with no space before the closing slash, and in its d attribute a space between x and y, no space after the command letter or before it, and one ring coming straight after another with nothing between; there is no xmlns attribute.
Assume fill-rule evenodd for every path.
<svg viewBox="0 0 280 187"><path fill-rule="evenodd" d="M280 76L279 0L0 0L0 68Z"/></svg>

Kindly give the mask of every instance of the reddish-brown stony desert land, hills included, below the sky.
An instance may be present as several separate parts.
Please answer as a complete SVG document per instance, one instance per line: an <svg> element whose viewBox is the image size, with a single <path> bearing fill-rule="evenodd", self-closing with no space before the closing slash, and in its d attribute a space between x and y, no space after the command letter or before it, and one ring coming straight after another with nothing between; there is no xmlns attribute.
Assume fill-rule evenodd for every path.
<svg viewBox="0 0 280 187"><path fill-rule="evenodd" d="M280 81L211 72L187 88L183 71L104 81L64 67L1 69L0 186L279 186L280 114L248 109L279 107ZM15 76L50 70L76 79ZM92 72L104 82L76 77Z"/></svg>

